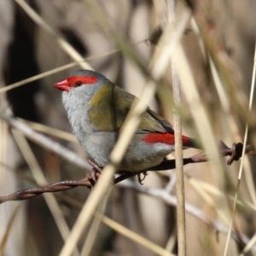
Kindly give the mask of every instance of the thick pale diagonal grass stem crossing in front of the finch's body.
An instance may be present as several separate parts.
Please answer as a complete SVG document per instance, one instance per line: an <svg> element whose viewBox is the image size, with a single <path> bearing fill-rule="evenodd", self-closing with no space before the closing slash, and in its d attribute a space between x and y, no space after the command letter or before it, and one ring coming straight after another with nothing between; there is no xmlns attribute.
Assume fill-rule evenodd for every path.
<svg viewBox="0 0 256 256"><path fill-rule="evenodd" d="M160 79L161 75L165 72L167 64L169 63L170 57L172 55L172 51L175 49L175 44L177 44L178 38L181 37L183 29L188 20L189 14L188 12L184 12L182 20L178 20L180 23L177 23L177 29L179 29L179 33L177 32L177 29L172 31L172 26L166 26L166 30L163 33L162 38L160 38L161 48L157 50L157 53L154 54L154 64L151 66L151 75L153 79ZM175 35L176 40L172 40L174 39L173 35ZM73 225L71 236L67 240L64 247L61 249L60 256L69 256L70 253L72 253L73 247L77 244L84 229L89 224L93 212L96 210L99 201L101 201L102 196L107 191L109 184L112 181L113 173L115 172L119 162L122 160L122 157L125 154L125 150L137 129L137 125L139 125L140 114L148 108L148 103L154 96L154 89L154 81L149 80L148 83L144 86L140 100L136 102L136 105L131 108L130 113L128 113L125 119L125 123L120 131L119 140L113 148L112 153L110 154L110 162L103 168L102 177L96 183L95 189L92 191L87 201L85 202L76 223Z"/></svg>

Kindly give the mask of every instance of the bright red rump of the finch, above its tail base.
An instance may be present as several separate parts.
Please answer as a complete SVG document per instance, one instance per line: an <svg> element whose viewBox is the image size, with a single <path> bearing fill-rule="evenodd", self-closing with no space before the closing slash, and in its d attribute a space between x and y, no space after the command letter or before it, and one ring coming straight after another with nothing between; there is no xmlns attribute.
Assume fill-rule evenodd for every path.
<svg viewBox="0 0 256 256"><path fill-rule="evenodd" d="M189 144L189 137L183 136L183 145ZM148 133L145 137L142 139L145 143L165 143L168 145L174 145L174 134L173 133Z"/></svg>

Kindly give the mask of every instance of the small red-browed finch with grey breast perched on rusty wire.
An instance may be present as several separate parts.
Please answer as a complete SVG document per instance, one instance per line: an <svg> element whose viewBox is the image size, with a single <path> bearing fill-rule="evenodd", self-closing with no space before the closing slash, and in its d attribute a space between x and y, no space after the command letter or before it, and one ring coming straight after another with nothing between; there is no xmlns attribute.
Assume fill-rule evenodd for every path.
<svg viewBox="0 0 256 256"><path fill-rule="evenodd" d="M119 138L125 117L137 98L113 84L101 73L80 69L55 83L62 90L62 103L73 134L100 172ZM184 148L199 148L195 139L182 136ZM119 170L139 173L157 166L174 151L172 125L152 109L142 114ZM93 179L96 175L94 174Z"/></svg>

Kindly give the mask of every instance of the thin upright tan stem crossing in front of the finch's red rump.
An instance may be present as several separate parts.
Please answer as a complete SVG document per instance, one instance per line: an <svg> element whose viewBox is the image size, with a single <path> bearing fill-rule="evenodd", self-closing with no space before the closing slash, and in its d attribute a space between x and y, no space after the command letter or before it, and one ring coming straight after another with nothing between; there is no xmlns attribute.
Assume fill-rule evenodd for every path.
<svg viewBox="0 0 256 256"><path fill-rule="evenodd" d="M168 21L175 21L175 1L167 0ZM175 108L181 108L181 85L177 73L176 56L171 60L172 87ZM173 109L173 125L175 131L175 156L177 175L177 255L186 255L186 223L185 223L185 200L184 200L184 179L183 179L183 142L181 118L177 111Z"/></svg>

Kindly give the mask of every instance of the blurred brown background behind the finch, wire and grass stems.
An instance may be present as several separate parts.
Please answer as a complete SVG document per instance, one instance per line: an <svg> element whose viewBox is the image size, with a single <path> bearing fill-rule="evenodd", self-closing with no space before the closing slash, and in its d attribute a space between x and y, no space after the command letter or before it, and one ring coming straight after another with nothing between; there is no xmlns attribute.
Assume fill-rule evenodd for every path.
<svg viewBox="0 0 256 256"><path fill-rule="evenodd" d="M119 45L114 38L114 35L117 34L120 38L124 38L125 42L133 45L138 59L145 68L148 67L154 47L157 47L150 44L147 39L157 26L164 26L167 20L166 1L164 0L94 1L104 14L101 17L88 8L90 1L86 0L35 0L26 1L26 3L62 38L67 40L80 55L88 57L117 49ZM237 101L239 106L246 111L253 72L255 1L198 0L189 1L189 3L195 22L200 28L205 49L212 56L212 60L218 68L219 76L223 79L230 96L230 102ZM180 1L177 1L178 4L182 6ZM180 8L182 9L182 7ZM178 10L179 7L177 7ZM106 26L104 26L104 22ZM0 88L73 61L61 49L55 38L45 32L41 26L35 24L15 1L0 1L0 35ZM235 142L234 137L230 136L223 125L224 115L221 113L209 62L201 54L193 26L188 24L182 42L202 101L207 105L216 138L231 145ZM145 82L143 73L121 52L91 60L89 63L96 71L105 74L115 84L137 96L140 95ZM61 104L61 93L53 88L53 84L78 68L73 67L55 73L15 90L9 90L6 94L1 94L2 108L9 105L17 117L49 125L62 131L71 131ZM166 73L163 83L167 88L167 96L172 96L170 80L171 76ZM238 111L234 102L231 106L232 114L241 132L237 134L236 138L242 140L246 121L245 114ZM184 102L184 106L186 106L186 102ZM170 103L166 104L166 94L162 90L158 90L156 100L150 107L158 110L172 123L172 108ZM183 132L188 135L194 134L194 130L190 129L190 126L194 127L194 125L191 125L193 120L189 117L189 111L187 112L184 107L183 112L187 115ZM253 134L253 130L251 131ZM19 170L17 172L25 177L32 177L30 168L17 147L12 133L1 120L0 132L1 162ZM85 156L83 148L80 148L78 143L51 138L81 156ZM79 179L84 176L83 170L70 165L60 156L49 153L34 143L29 144L49 183L65 179ZM193 155L196 152L196 150L189 150L189 152L185 152L185 155ZM218 209L226 214L225 218L219 217L215 207L202 196L200 191L195 189L188 179L185 180L186 201L198 207L209 218L216 218L220 223L227 225L228 222L225 220L229 221L232 207L232 201L227 195L229 193L234 195L238 164L226 167L224 172L210 170L208 163L185 166L184 169L189 177L210 183L223 192L224 197L218 195L210 197L219 207ZM144 181L144 186L164 188L169 181L168 175L169 172L167 172L167 176L150 173ZM253 176L255 177L255 174ZM15 190L28 187L37 187L37 185L26 178L16 177L14 172L0 166L1 195L8 195ZM241 198L251 201L246 182L241 184L240 192ZM89 193L88 189L77 188L63 192L61 195L84 202ZM175 189L172 194L175 195ZM61 200L60 197L57 197L57 200L67 219L67 224L71 228L79 214L79 209L68 204L67 201ZM0 241L15 205L15 202L8 202L0 206ZM63 240L43 196L38 196L30 201L21 201L20 206L20 212L11 229L4 255L58 255L63 246ZM247 237L253 236L256 230L254 211L247 207L238 207L237 209L234 229ZM115 186L108 201L106 214L119 224L136 231L161 247L171 244L172 253L177 253L175 212L175 207L167 205L159 198L141 195L131 189ZM193 214L186 214L186 224L189 256L223 255L226 235L216 234L211 226L204 224ZM84 238L81 240L79 248L83 246ZM230 241L228 255L239 255L244 246L245 244L242 242ZM251 253L248 255L256 255L255 250L254 253ZM102 224L90 255L148 256L154 255L154 253Z"/></svg>

